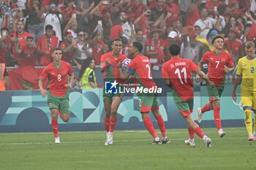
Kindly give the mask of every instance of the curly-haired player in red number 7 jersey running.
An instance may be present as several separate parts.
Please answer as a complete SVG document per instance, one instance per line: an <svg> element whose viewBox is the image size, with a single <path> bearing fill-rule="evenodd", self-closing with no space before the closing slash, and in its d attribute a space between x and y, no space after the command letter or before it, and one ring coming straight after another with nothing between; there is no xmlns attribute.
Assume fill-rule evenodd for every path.
<svg viewBox="0 0 256 170"><path fill-rule="evenodd" d="M207 85L208 96L210 97L209 103L206 104L202 109L198 108L197 121L200 123L202 121L202 115L204 112L209 110L214 110L214 121L218 129L218 134L222 138L225 136L225 131L222 130L222 123L220 120L220 96L224 90L224 79L225 73L233 72L234 63L230 53L223 50L224 37L220 34L214 36L212 40L212 45L214 46L214 51L208 51L203 55L203 58L198 63L200 68L202 68L203 63L208 63L208 77L209 80L215 83L216 86L210 87ZM197 81L200 78L197 75Z"/></svg>

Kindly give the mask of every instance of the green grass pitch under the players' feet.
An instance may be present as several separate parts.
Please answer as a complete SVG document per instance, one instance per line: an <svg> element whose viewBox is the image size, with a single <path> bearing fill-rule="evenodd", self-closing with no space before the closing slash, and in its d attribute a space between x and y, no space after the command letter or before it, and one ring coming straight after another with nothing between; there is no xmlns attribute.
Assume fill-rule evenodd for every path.
<svg viewBox="0 0 256 170"><path fill-rule="evenodd" d="M52 133L0 134L0 169L254 169L256 141L247 141L245 128L225 128L223 139L216 128L203 130L211 148L197 136L195 148L185 145L187 129L168 129L170 144L162 145L152 145L146 130L115 131L111 146L104 145L105 131L60 132L61 144Z"/></svg>

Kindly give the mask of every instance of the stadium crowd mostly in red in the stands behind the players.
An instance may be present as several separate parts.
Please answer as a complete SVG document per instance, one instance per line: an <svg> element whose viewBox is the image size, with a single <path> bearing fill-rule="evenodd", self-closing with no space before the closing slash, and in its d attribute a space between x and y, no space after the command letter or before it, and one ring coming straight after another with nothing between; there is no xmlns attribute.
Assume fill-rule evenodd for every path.
<svg viewBox="0 0 256 170"><path fill-rule="evenodd" d="M18 66L25 89L37 88L35 66L47 66L56 47L62 60L86 72L86 60L100 63L113 39L122 53L141 42L151 69L170 60L168 47L181 45L181 58L198 63L216 34L238 62L246 41L256 42L256 0L2 0L0 63ZM91 68L91 69L93 69ZM42 71L42 70L40 70ZM88 71L87 71L88 72ZM91 72L90 72L91 74ZM94 73L93 73L94 74ZM79 74L79 79L83 78ZM76 75L78 77L78 75ZM97 77L100 78L100 77ZM93 77L95 81L95 75ZM96 84L97 85L97 84ZM94 88L96 86L94 85Z"/></svg>

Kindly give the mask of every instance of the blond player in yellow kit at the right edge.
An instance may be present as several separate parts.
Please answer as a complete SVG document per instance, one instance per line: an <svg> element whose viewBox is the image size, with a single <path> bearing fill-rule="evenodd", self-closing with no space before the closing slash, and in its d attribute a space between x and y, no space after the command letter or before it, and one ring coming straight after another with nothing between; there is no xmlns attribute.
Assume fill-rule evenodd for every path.
<svg viewBox="0 0 256 170"><path fill-rule="evenodd" d="M252 134L253 122L252 111L255 113L256 120L256 55L255 43L246 42L246 56L238 61L238 69L234 80L232 98L236 101L236 88L241 83L241 102L244 108L244 123L249 134L248 141L256 139L256 122L255 134Z"/></svg>

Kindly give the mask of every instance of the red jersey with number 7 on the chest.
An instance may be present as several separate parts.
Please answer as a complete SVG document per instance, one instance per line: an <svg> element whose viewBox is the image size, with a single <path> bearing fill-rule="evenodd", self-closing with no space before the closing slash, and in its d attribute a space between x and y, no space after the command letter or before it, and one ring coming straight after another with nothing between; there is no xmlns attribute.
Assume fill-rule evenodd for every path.
<svg viewBox="0 0 256 170"><path fill-rule="evenodd" d="M232 55L225 50L222 50L221 55L208 51L203 55L202 61L208 62L208 77L215 85L222 85L225 79L225 66L234 66Z"/></svg>

